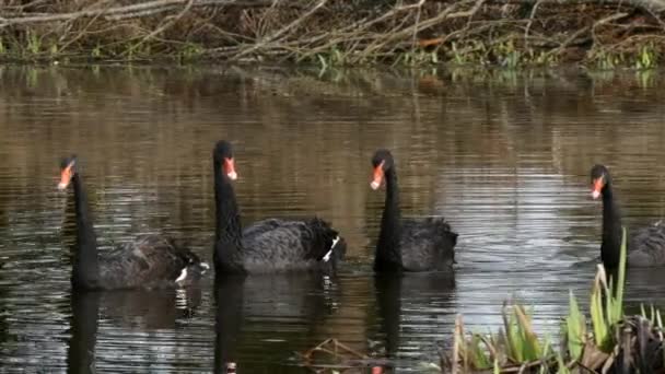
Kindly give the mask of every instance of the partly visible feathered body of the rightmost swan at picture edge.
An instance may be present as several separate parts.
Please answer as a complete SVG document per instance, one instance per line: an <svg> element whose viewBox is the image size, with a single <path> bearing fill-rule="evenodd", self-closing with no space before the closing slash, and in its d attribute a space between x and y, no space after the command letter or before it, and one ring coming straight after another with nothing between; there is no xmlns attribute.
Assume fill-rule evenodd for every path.
<svg viewBox="0 0 665 374"><path fill-rule="evenodd" d="M664 266L665 226L658 223L637 230L628 247L628 262L631 266Z"/></svg>

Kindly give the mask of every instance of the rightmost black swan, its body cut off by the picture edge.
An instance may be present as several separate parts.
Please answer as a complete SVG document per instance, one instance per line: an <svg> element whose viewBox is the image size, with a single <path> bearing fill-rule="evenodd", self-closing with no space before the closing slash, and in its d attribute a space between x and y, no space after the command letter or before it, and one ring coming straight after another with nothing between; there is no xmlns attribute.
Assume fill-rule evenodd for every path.
<svg viewBox="0 0 665 374"><path fill-rule="evenodd" d="M606 268L619 266L621 253L621 212L611 190L609 171L604 165L591 170L592 197L603 197L603 243L600 259ZM628 243L627 264L630 267L665 266L665 226L661 222L635 231Z"/></svg>

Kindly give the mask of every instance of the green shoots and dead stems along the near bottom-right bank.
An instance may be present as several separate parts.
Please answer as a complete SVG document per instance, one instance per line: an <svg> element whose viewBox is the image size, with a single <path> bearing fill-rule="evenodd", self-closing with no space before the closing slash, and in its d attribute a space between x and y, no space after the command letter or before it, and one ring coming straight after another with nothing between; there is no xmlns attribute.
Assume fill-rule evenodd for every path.
<svg viewBox="0 0 665 374"><path fill-rule="evenodd" d="M463 316L458 315L452 348L440 353L439 363L423 363L420 369L452 374L663 373L665 339L660 311L642 305L638 315L623 313L626 236L623 230L619 268L608 274L598 265L590 294L588 318L571 291L558 343L536 334L527 308L518 303L504 303L500 331L467 332ZM316 362L315 352L327 354L326 362ZM373 366L373 373L383 372L377 366L381 360L372 360L335 339L312 348L301 358L303 365L313 371L334 367L332 372L343 373L369 365Z"/></svg>

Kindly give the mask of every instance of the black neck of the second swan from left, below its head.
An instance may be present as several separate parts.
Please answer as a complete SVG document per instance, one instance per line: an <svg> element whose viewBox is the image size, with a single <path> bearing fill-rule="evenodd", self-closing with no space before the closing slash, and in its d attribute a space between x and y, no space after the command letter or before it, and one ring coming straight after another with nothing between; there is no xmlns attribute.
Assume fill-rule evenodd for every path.
<svg viewBox="0 0 665 374"><path fill-rule="evenodd" d="M215 243L233 243L235 248L241 247L243 227L241 214L235 201L235 192L231 179L222 173L222 166L214 162L214 202L217 206Z"/></svg>

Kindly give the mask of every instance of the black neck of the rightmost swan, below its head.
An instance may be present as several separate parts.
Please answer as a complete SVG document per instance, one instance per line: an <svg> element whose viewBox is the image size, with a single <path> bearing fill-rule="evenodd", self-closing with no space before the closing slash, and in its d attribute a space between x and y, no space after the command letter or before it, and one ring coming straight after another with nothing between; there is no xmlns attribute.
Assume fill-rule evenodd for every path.
<svg viewBox="0 0 665 374"><path fill-rule="evenodd" d="M621 232L621 212L608 180L603 190L603 244L600 244L600 258L608 269L619 266Z"/></svg>

